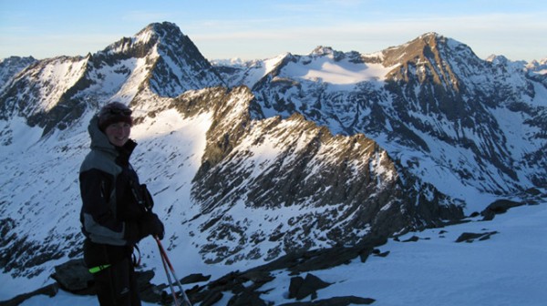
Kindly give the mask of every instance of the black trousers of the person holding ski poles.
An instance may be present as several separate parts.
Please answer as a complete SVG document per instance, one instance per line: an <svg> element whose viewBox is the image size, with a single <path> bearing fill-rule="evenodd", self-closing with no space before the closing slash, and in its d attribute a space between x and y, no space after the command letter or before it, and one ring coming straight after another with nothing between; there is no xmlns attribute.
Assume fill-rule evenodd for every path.
<svg viewBox="0 0 547 306"><path fill-rule="evenodd" d="M135 270L130 259L93 274L101 306L140 306Z"/></svg>

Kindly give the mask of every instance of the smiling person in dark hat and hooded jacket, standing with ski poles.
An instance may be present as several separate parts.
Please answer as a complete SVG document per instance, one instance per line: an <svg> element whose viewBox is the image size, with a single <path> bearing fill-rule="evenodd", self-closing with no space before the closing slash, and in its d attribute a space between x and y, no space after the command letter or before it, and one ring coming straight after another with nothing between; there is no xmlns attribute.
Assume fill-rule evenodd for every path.
<svg viewBox="0 0 547 306"><path fill-rule="evenodd" d="M137 146L132 124L124 104L102 107L89 122L91 151L79 172L84 262L100 305L140 305L133 250L149 235L164 236L150 192L129 163Z"/></svg>

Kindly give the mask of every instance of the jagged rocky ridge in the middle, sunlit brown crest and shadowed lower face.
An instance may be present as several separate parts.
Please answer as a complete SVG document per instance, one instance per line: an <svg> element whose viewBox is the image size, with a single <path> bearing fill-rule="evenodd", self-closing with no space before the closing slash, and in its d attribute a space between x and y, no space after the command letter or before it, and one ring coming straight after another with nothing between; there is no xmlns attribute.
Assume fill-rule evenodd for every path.
<svg viewBox="0 0 547 306"><path fill-rule="evenodd" d="M432 186L423 186L434 196L431 200L414 190L420 183L411 174L403 184L387 152L363 135L333 136L300 115L252 120L248 109L253 96L246 87L225 96L215 93L210 100L213 124L192 189L201 203L195 219L209 233L201 252L210 262L272 260L283 253L352 245L373 233L387 237L463 216L457 201ZM206 96L194 94L191 101L180 98L178 109L193 113L202 97L212 96L202 94ZM271 152L268 158L253 153L261 148ZM245 209L272 211L275 219L283 219L284 211L292 216L273 222L232 213L242 201ZM275 226L246 230L255 222ZM261 252L262 244L272 242L274 247ZM249 244L254 247L250 251Z"/></svg>

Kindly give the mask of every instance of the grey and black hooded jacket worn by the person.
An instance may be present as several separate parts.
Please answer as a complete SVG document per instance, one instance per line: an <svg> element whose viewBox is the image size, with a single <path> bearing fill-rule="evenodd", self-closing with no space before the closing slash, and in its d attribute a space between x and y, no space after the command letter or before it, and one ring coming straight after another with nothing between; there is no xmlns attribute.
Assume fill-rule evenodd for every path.
<svg viewBox="0 0 547 306"><path fill-rule="evenodd" d="M88 126L91 151L80 171L82 232L91 242L112 246L132 246L142 239L139 219L145 208L135 199L139 178L129 164L137 146L133 140L118 148L98 128L98 117Z"/></svg>

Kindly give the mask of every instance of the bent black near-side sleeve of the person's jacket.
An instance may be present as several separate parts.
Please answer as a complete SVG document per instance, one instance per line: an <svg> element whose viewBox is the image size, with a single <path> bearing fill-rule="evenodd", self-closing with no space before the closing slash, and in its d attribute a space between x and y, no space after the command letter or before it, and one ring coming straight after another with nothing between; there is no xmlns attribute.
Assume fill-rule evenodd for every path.
<svg viewBox="0 0 547 306"><path fill-rule="evenodd" d="M95 243L128 245L140 239L139 226L116 218L113 177L97 168L79 176L84 234Z"/></svg>

